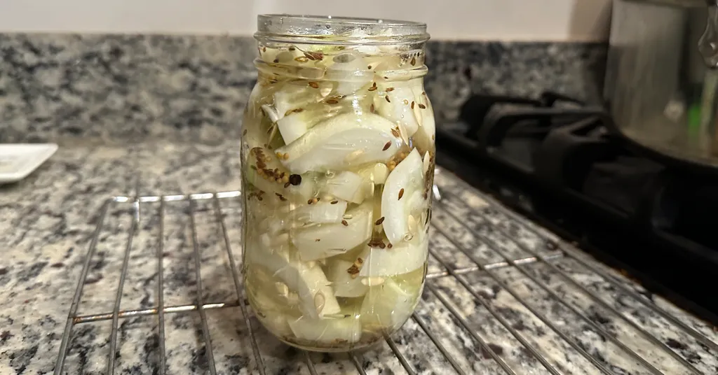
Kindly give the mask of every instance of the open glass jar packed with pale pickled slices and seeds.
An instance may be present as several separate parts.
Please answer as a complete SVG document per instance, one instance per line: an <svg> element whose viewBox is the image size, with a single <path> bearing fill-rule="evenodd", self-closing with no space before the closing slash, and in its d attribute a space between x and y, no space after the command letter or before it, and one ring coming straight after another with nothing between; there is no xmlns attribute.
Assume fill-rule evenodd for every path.
<svg viewBox="0 0 718 375"><path fill-rule="evenodd" d="M426 278L426 25L258 16L242 130L243 272L259 321L312 351L398 330Z"/></svg>

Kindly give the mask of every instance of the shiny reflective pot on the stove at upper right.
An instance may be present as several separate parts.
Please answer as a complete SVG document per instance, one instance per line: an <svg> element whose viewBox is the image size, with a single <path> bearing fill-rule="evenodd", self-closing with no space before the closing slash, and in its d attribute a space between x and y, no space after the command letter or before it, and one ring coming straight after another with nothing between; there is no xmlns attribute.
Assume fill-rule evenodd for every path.
<svg viewBox="0 0 718 375"><path fill-rule="evenodd" d="M648 153L718 168L716 0L615 0L604 98Z"/></svg>

